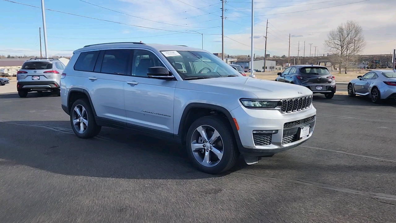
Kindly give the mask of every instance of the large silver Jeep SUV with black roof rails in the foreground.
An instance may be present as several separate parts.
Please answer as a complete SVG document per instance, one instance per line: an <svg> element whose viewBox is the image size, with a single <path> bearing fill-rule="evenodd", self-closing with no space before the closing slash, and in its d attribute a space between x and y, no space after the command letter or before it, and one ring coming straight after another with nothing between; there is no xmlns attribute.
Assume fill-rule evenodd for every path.
<svg viewBox="0 0 396 223"><path fill-rule="evenodd" d="M206 173L298 146L316 120L306 87L243 77L205 50L139 42L74 51L61 100L78 137L107 126L173 140Z"/></svg>

